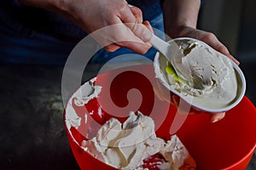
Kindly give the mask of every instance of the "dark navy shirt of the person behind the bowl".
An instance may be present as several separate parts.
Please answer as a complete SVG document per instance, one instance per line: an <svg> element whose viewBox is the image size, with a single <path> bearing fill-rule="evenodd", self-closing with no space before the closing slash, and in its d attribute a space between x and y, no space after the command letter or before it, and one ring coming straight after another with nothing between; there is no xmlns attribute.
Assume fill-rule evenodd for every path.
<svg viewBox="0 0 256 170"><path fill-rule="evenodd" d="M143 10L144 20L153 20L161 13L158 0L130 0L128 3ZM38 31L64 41L73 42L86 36L82 29L65 17L41 8L20 5L15 0L0 2L0 22L9 29L25 35L31 34L32 31Z"/></svg>

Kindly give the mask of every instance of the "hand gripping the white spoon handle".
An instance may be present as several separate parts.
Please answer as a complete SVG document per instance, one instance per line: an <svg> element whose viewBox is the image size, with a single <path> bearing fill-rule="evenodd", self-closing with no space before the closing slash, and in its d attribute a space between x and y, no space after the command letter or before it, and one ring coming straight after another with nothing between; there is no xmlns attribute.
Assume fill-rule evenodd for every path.
<svg viewBox="0 0 256 170"><path fill-rule="evenodd" d="M109 52L120 47L145 54L153 31L148 21L143 22L142 11L120 0L79 0L69 4L68 17ZM104 29L102 29L104 28ZM101 29L101 30L99 30Z"/></svg>

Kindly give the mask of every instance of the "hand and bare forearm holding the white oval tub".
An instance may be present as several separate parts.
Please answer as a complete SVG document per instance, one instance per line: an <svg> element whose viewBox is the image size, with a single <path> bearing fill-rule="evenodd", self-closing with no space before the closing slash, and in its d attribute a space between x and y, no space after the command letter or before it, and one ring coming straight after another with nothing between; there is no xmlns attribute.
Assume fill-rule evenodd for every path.
<svg viewBox="0 0 256 170"><path fill-rule="evenodd" d="M203 42L206 42L218 52L230 57L230 59L234 60L237 65L239 64L239 62L234 59L234 57L229 53L228 49L225 48L224 45L218 41L217 37L215 37L210 32L200 31L196 29L198 12L201 8L200 0L166 0L164 1L162 6L165 21L165 31L167 35L172 38L192 37L195 39L199 39ZM192 113L193 111L190 112ZM212 114L211 122L216 122L223 117L224 113Z"/></svg>

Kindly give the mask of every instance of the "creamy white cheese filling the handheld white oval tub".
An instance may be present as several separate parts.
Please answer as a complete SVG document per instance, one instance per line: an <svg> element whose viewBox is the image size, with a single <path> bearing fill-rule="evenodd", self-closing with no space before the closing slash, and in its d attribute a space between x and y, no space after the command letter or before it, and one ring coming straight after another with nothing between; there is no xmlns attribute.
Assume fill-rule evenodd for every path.
<svg viewBox="0 0 256 170"><path fill-rule="evenodd" d="M166 73L170 61L161 56L158 74L162 75L157 77L184 96L193 96L194 103L210 108L230 105L237 94L236 72L230 59L200 41L183 39L175 42L178 48L172 50L171 64L184 81L177 81Z"/></svg>

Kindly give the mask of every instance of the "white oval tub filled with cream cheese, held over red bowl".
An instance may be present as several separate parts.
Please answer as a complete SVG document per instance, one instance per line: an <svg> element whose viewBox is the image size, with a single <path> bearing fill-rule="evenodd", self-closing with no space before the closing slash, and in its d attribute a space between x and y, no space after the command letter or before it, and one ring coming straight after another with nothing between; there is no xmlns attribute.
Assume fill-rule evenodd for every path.
<svg viewBox="0 0 256 170"><path fill-rule="evenodd" d="M157 53L156 78L172 93L201 111L229 111L245 94L241 69L205 42L181 37L172 39L171 59Z"/></svg>

